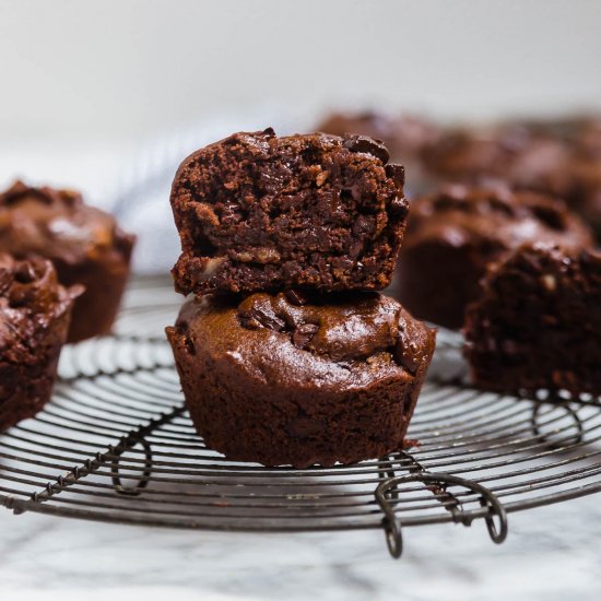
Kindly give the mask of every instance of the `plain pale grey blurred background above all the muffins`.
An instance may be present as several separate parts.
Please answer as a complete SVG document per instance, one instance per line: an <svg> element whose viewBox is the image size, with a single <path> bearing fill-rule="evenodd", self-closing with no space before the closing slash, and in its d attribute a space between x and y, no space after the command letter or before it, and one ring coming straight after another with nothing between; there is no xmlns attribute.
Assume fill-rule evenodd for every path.
<svg viewBox="0 0 601 601"><path fill-rule="evenodd" d="M448 117L601 103L597 0L20 0L0 131L131 139L266 102Z"/></svg>

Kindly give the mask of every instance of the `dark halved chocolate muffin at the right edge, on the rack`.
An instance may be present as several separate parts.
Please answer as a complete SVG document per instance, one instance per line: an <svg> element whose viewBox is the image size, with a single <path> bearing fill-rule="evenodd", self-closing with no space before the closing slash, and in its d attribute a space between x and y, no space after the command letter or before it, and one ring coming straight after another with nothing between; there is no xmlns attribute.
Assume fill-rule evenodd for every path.
<svg viewBox="0 0 601 601"><path fill-rule="evenodd" d="M491 266L466 320L466 356L487 390L601 394L601 255L525 245Z"/></svg>

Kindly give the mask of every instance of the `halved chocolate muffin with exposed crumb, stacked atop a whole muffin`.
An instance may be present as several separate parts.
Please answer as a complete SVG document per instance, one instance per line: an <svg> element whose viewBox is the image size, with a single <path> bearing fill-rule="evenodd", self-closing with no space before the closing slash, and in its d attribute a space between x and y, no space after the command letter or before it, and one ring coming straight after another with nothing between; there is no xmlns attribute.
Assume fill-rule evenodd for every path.
<svg viewBox="0 0 601 601"><path fill-rule="evenodd" d="M185 294L384 288L408 215L403 168L381 143L271 129L195 152L170 201Z"/></svg>

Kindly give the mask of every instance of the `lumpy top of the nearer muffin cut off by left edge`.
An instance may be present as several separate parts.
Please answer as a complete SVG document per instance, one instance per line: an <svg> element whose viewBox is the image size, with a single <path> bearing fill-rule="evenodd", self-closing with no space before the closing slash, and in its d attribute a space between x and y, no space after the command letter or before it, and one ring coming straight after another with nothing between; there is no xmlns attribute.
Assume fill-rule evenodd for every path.
<svg viewBox="0 0 601 601"><path fill-rule="evenodd" d="M0 352L4 361L35 362L37 337L64 315L83 286L58 283L46 259L0 252Z"/></svg>

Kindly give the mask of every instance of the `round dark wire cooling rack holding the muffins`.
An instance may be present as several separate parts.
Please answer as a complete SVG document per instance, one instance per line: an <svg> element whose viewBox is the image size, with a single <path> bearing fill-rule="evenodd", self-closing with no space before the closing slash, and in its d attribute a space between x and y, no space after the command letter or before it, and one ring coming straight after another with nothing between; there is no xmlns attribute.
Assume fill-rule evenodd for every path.
<svg viewBox="0 0 601 601"><path fill-rule="evenodd" d="M176 528L382 528L481 519L601 491L601 399L518 399L464 384L440 332L412 446L355 466L263 468L207 448L188 417L163 329L180 304L138 281L113 337L64 349L52 401L0 435L0 503L15 514Z"/></svg>

